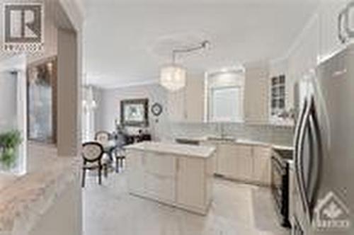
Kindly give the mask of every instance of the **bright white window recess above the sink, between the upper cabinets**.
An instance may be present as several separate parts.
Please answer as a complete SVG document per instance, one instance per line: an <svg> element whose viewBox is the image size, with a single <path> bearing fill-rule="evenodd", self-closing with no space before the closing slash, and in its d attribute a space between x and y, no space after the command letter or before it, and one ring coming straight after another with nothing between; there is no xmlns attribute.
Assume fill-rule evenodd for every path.
<svg viewBox="0 0 354 235"><path fill-rule="evenodd" d="M244 121L244 69L207 74L207 121Z"/></svg>

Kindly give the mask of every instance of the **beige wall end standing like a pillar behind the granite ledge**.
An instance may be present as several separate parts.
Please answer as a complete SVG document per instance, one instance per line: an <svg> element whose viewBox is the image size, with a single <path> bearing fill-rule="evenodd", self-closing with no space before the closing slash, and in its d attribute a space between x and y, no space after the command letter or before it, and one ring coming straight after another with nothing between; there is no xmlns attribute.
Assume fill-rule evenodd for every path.
<svg viewBox="0 0 354 235"><path fill-rule="evenodd" d="M73 30L58 30L57 148L59 156L76 156L78 151L77 44ZM81 111L81 110L80 110Z"/></svg>

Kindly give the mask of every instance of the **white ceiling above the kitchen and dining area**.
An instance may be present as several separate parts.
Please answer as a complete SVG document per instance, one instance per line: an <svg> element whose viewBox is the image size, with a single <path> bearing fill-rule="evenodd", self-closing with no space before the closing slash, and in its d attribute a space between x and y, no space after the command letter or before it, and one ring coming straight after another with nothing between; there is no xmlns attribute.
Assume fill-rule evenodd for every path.
<svg viewBox="0 0 354 235"><path fill-rule="evenodd" d="M210 40L178 57L192 73L275 59L304 28L316 0L86 0L84 74L103 88L146 84L171 50Z"/></svg>

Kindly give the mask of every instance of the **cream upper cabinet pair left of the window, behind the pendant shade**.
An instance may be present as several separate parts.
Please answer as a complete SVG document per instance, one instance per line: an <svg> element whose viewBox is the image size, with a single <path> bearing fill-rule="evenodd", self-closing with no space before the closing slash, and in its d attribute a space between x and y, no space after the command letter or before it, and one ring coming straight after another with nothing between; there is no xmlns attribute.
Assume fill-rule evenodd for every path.
<svg viewBox="0 0 354 235"><path fill-rule="evenodd" d="M183 89L168 93L169 119L173 122L202 122L204 91L204 74L188 74Z"/></svg>

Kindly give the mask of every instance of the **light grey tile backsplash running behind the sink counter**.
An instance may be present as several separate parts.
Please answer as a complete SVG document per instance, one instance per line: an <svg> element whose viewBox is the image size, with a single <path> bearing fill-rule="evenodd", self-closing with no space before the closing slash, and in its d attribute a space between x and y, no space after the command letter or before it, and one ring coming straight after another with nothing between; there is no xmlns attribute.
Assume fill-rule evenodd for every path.
<svg viewBox="0 0 354 235"><path fill-rule="evenodd" d="M280 145L292 145L293 127L275 125L246 125L244 123L169 123L169 134L164 139L176 137L203 137L207 135L232 136Z"/></svg>

